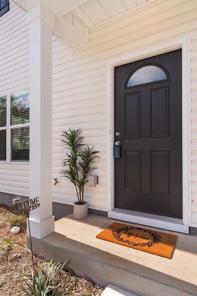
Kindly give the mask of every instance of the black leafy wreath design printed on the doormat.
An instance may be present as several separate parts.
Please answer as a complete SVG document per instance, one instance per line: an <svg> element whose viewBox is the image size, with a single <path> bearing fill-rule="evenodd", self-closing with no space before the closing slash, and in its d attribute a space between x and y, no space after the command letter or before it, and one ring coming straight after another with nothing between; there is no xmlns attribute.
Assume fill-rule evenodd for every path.
<svg viewBox="0 0 197 296"><path fill-rule="evenodd" d="M144 231L145 233L149 233L152 236L152 240L150 240L150 238L147 237L143 237L143 236L139 236L133 232L131 232L132 230L141 230ZM129 240L124 240L123 237L121 237L122 234L125 234L127 236L134 236L134 237L138 237L144 240L147 240L147 242L145 243L134 243L133 241L129 241ZM151 231L148 229L144 229L144 228L139 228L139 227L128 227L128 226L124 226L123 228L118 228L118 230L114 230L113 231L113 236L117 241L122 241L124 243L127 243L129 245L132 246L138 246L138 247L145 247L148 246L149 248L152 247L155 244L159 244L160 241L162 241L162 236L160 236L156 231Z"/></svg>

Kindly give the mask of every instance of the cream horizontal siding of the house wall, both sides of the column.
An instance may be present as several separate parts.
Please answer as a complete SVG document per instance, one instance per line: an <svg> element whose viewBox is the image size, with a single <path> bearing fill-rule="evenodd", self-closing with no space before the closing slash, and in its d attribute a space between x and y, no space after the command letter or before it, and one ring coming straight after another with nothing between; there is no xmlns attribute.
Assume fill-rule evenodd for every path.
<svg viewBox="0 0 197 296"><path fill-rule="evenodd" d="M8 32L3 21L7 21L10 14L13 14L16 23L14 26L13 24L9 25L11 31ZM20 15L20 19L17 15ZM16 91L16 87L26 88L29 84L27 76L29 71L29 26L26 23L26 15L17 7L13 7L12 4L10 11L1 17L0 21L2 35L0 46L1 50L4 49L3 54L1 51L1 59L3 60L0 65L0 95L4 95L8 90L10 91L10 88ZM11 22L13 23L13 21L12 19ZM18 29L16 29L16 25ZM2 28L5 28L5 33ZM53 36L52 174L53 178L60 176L61 161L66 152L61 144L62 131L69 130L69 128L81 128L82 136L85 137L84 143L90 147L94 145L94 149L100 151L100 159L95 162L95 166L98 168L94 171L100 174L100 186L87 186L85 190L85 200L91 209L106 211L106 132L108 132L106 131L106 61L186 35L191 37L190 226L197 227L196 1L157 0L152 2L92 29L89 33L89 44L74 50ZM17 64L17 68L14 64ZM5 67L4 74L2 74L2 66ZM7 79L4 79L5 75L7 75ZM2 83L2 81L4 82ZM7 184L0 185L0 191L10 192L15 172L19 176L25 175L24 171L28 174L28 164L20 163L17 167L16 165L16 163L0 163L1 184ZM24 169L22 170L22 168ZM3 170L6 171L6 174ZM22 176L20 182L22 179L24 180ZM11 193L20 191L23 195L24 183L27 185L25 192L28 192L27 180L22 183L18 181L18 186L13 188ZM17 190L17 187L19 191L14 191ZM72 184L61 177L60 187L53 186L53 202L71 205L75 200L76 193Z"/></svg>

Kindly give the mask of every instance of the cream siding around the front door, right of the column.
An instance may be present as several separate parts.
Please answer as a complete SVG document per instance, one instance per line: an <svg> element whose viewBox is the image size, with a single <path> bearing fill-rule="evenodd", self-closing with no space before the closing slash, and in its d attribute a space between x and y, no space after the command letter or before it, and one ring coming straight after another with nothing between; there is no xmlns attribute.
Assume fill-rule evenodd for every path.
<svg viewBox="0 0 197 296"><path fill-rule="evenodd" d="M60 134L81 128L85 142L101 151L95 172L100 187L86 187L90 208L106 210L106 61L144 47L191 36L191 149L196 150L196 2L159 0L90 30L89 45L74 51L53 40L53 176L58 175L65 149ZM195 101L192 101L195 100ZM192 113L192 110L191 110ZM194 118L193 118L194 117ZM197 226L197 155L191 157L191 226ZM58 175L59 176L59 175ZM75 189L61 177L53 201L72 204Z"/></svg>

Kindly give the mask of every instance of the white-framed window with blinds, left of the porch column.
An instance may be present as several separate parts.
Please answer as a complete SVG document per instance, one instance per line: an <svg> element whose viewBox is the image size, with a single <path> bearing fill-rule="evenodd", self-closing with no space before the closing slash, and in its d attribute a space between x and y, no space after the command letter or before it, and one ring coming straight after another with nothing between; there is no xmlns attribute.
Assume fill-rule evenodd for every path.
<svg viewBox="0 0 197 296"><path fill-rule="evenodd" d="M29 161L29 89L0 97L0 161Z"/></svg>

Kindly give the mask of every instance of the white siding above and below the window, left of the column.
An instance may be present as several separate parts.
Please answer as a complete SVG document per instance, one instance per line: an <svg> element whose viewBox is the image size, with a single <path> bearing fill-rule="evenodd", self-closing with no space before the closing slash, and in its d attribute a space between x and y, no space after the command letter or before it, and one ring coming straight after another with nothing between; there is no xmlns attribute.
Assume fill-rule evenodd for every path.
<svg viewBox="0 0 197 296"><path fill-rule="evenodd" d="M29 24L12 2L0 18L0 58L0 96L29 88ZM0 191L29 196L29 163L9 160L0 162Z"/></svg>

